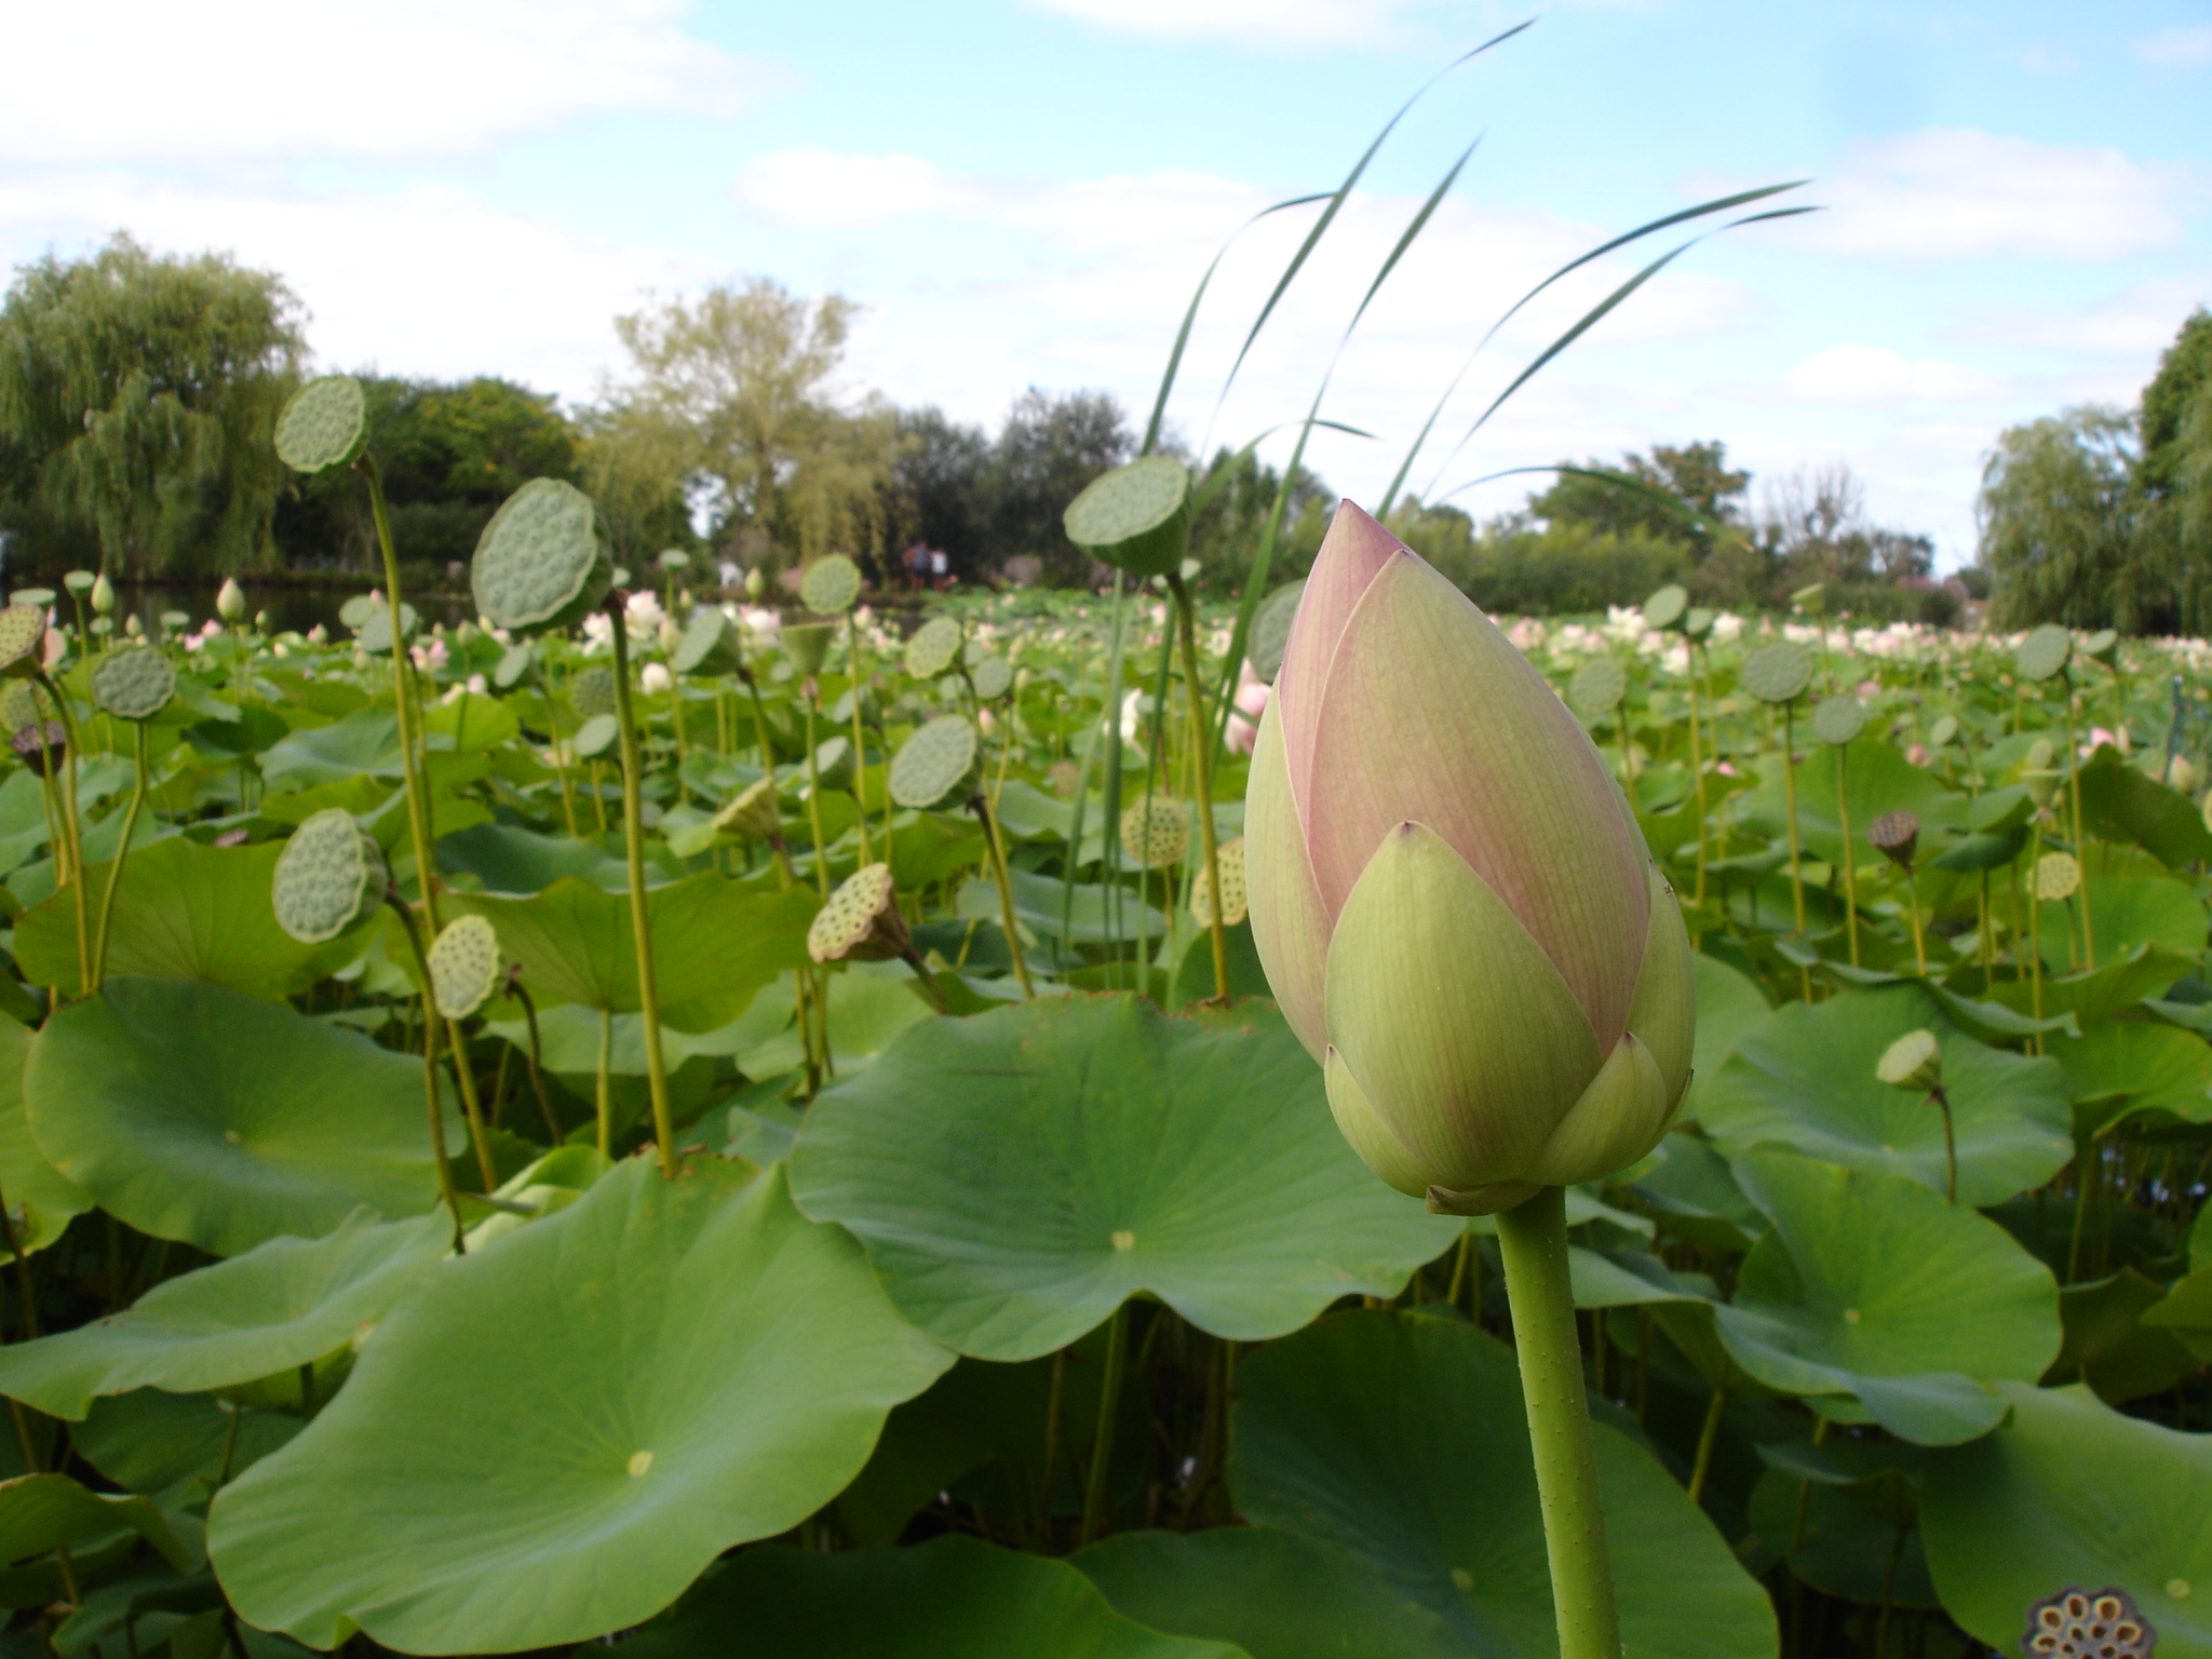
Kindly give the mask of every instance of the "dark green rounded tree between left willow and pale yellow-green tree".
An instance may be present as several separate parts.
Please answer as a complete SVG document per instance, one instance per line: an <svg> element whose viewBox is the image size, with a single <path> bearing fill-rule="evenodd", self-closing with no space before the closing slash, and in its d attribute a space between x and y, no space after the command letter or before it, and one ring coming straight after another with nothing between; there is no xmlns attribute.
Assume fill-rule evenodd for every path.
<svg viewBox="0 0 2212 1659"><path fill-rule="evenodd" d="M403 560L467 560L491 513L531 478L580 478L580 434L549 392L484 376L361 383ZM296 480L276 509L276 542L294 562L372 568L367 493L343 469Z"/></svg>

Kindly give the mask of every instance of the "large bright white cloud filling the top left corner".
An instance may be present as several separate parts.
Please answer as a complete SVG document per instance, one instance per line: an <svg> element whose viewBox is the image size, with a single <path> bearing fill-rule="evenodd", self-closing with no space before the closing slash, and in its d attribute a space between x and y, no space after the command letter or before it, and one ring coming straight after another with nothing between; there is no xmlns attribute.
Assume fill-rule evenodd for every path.
<svg viewBox="0 0 2212 1659"><path fill-rule="evenodd" d="M0 155L64 166L440 155L608 111L728 113L776 84L686 33L686 0L9 4Z"/></svg>

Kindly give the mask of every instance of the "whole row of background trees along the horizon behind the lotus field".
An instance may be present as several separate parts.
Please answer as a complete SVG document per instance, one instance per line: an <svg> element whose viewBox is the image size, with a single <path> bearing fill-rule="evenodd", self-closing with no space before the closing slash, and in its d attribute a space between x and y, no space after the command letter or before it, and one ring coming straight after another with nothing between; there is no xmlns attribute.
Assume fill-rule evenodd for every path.
<svg viewBox="0 0 2212 1659"><path fill-rule="evenodd" d="M768 279L650 299L615 321L622 372L562 409L500 378L363 376L394 533L409 562L467 560L526 478L593 491L617 553L664 549L776 573L827 551L898 582L909 546L962 582L1086 584L1066 502L1137 449L1104 392L1020 394L991 431L936 407L838 396L856 305ZM372 526L343 480L270 456L307 358L303 312L272 272L164 257L128 237L49 254L0 303L0 549L7 571L104 568L199 580L367 571ZM1170 436L1170 447L1175 440ZM1234 591L1265 526L1301 575L1336 498L1252 453L1183 453L1201 478L1201 582ZM2192 630L2212 624L2212 316L2197 312L2141 405L2006 429L1982 482L1978 566L1933 575L1933 544L1878 524L1847 467L1759 480L1719 440L1562 462L1495 518L1409 498L1391 529L1502 613L1635 604L1681 582L1701 604L1953 622L1991 599L2002 626ZM1281 502L1279 502L1281 498ZM1279 515L1281 511L1281 515ZM1279 518L1276 518L1279 515Z"/></svg>

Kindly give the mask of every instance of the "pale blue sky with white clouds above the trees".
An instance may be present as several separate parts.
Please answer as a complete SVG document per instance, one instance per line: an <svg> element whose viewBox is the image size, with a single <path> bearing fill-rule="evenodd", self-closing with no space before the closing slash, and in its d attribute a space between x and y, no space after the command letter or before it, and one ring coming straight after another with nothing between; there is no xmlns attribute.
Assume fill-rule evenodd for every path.
<svg viewBox="0 0 2212 1659"><path fill-rule="evenodd" d="M1944 568L2006 425L2132 403L2212 303L2205 0L77 0L0 7L0 263L221 250L283 276L327 369L582 405L626 372L619 314L768 276L863 307L847 400L995 429L1097 387L1141 422L1221 254L1168 403L1194 449L1318 394L1369 436L1307 465L1374 504L1442 400L1409 487L1491 515L1542 487L1515 467L1721 440L1754 493L1847 465ZM1230 380L1318 206L1254 215L1400 108ZM1475 429L1739 215L1484 345L1528 290L1792 181L1763 206L1818 212L1688 248Z"/></svg>

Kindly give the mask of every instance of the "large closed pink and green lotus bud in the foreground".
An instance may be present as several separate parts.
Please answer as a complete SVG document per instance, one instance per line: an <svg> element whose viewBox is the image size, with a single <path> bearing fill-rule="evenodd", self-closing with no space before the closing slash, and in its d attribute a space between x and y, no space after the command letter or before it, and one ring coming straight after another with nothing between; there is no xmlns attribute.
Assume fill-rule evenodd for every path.
<svg viewBox="0 0 2212 1659"><path fill-rule="evenodd" d="M1431 1210L1601 1179L1674 1119L1672 889L1544 677L1349 502L1261 714L1245 891L1338 1128Z"/></svg>

